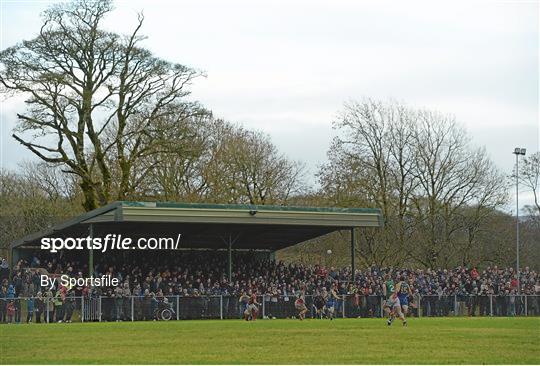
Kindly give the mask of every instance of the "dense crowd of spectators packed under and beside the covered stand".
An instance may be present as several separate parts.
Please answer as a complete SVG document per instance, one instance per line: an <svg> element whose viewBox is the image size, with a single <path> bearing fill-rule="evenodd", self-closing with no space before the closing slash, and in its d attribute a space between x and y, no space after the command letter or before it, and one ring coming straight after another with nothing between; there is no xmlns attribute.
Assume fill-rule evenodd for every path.
<svg viewBox="0 0 540 366"><path fill-rule="evenodd" d="M513 268L497 266L478 270L457 267L453 269L396 269L372 265L356 271L356 281L351 282L350 267L341 269L321 265L284 264L260 259L253 252L238 252L233 256L233 271L228 279L227 258L224 252L183 251L171 258L169 253L141 256L124 252L96 259L94 276L111 276L119 280L117 287L45 288L40 275L61 274L73 278L88 276L88 266L75 257L32 255L21 259L12 269L11 278L5 260L0 261L0 321L20 322L21 300L27 300L27 313L32 311L35 321L40 317L53 317L59 321L71 321L75 298L103 297L111 300L108 314L110 320L119 320L121 314L130 311L129 301L142 299L138 317L152 318L153 309L164 298L206 298L221 295L237 298L242 293L256 292L268 302L268 310L278 308L282 299L294 298L300 290L315 298L323 288L338 285L339 295L346 297L348 312L358 316L378 316L382 284L386 273L397 279L404 276L411 285L414 311L423 309L424 315L448 315L456 311L456 304L465 307L469 315L519 315L523 304L517 295L518 278ZM7 270L6 270L7 269ZM519 276L521 294L540 295L538 273L525 267ZM494 304L489 298L495 297ZM538 298L538 297L537 297ZM458 300L458 301L456 301ZM538 302L537 300L535 300ZM147 304L147 305L144 305ZM533 306L536 306L535 304ZM493 308L494 306L494 308ZM231 307L234 307L231 302ZM145 308L149 310L144 310ZM338 309L339 311L340 309ZM107 313L107 312L105 312ZM18 315L19 314L19 315ZM122 317L124 316L122 315ZM17 318L19 316L19 318ZM30 317L30 315L28 315ZM28 319L23 319L28 320ZM29 319L29 321L32 319Z"/></svg>

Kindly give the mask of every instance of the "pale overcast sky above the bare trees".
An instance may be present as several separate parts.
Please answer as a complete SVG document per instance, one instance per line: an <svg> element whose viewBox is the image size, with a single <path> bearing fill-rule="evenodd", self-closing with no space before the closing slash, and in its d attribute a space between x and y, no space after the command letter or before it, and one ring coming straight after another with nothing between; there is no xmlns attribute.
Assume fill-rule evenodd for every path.
<svg viewBox="0 0 540 366"><path fill-rule="evenodd" d="M2 49L33 38L51 3L0 2ZM364 96L455 115L507 172L515 146L539 150L538 1L117 1L106 26L128 33L141 10L148 48L207 73L194 99L310 173ZM3 167L33 159L11 138L23 107L2 102Z"/></svg>

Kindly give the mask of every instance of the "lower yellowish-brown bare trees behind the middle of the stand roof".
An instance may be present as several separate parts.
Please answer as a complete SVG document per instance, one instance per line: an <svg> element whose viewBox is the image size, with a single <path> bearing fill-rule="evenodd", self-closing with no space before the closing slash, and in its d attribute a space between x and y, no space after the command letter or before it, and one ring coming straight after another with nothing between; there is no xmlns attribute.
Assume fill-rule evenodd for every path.
<svg viewBox="0 0 540 366"><path fill-rule="evenodd" d="M162 134L153 140L171 147L134 167L140 176L134 197L285 204L303 189L303 166L280 154L266 135L210 113L158 125Z"/></svg>

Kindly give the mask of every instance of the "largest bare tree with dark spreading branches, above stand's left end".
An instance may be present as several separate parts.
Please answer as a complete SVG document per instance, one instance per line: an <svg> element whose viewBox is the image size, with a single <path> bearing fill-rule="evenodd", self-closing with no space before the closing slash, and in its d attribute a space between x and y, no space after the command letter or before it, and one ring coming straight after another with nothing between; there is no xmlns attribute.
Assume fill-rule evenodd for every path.
<svg viewBox="0 0 540 366"><path fill-rule="evenodd" d="M25 96L15 140L80 178L86 210L130 191L132 167L153 153L154 123L184 110L200 72L140 46L143 16L128 36L100 28L110 0L77 0L43 14L39 35L0 53L3 92ZM171 106L176 106L171 108ZM114 138L105 140L104 131ZM110 133L110 132L109 132Z"/></svg>

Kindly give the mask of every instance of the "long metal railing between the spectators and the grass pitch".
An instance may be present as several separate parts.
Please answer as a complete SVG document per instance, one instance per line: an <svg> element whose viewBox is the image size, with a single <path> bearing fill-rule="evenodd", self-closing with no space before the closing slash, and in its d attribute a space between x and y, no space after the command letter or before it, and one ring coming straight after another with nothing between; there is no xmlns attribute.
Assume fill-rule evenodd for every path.
<svg viewBox="0 0 540 366"><path fill-rule="evenodd" d="M245 303L238 296L0 298L0 323L104 322L188 319L240 319ZM298 315L294 296L258 297L259 318ZM306 296L306 317L320 317L324 302ZM334 303L337 318L383 317L382 296L341 295ZM540 316L540 295L415 295L412 317Z"/></svg>

